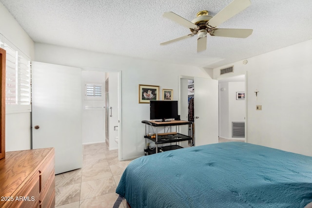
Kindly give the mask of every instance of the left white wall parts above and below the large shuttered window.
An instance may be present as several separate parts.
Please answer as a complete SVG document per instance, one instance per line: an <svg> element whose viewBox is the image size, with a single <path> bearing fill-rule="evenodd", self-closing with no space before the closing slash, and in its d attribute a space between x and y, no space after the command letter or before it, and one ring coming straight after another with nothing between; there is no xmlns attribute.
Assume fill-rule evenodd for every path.
<svg viewBox="0 0 312 208"><path fill-rule="evenodd" d="M0 34L18 47L25 55L34 58L34 42L1 2ZM5 120L5 151L31 149L31 114L6 114Z"/></svg>

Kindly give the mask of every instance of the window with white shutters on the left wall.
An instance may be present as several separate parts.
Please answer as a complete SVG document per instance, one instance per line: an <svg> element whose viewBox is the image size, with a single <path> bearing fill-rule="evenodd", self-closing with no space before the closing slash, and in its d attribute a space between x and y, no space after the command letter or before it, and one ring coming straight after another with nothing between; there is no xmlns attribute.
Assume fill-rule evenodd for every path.
<svg viewBox="0 0 312 208"><path fill-rule="evenodd" d="M31 62L0 34L0 47L6 51L6 113L31 112Z"/></svg>

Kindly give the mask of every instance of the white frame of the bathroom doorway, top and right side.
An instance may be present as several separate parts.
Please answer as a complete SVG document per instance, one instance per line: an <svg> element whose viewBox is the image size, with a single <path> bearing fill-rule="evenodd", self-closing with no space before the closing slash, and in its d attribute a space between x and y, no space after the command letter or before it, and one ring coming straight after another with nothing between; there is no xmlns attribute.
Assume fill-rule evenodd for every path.
<svg viewBox="0 0 312 208"><path fill-rule="evenodd" d="M118 125L119 125L119 128L118 128L118 138L119 138L119 141L118 141L118 160L121 161L121 158L122 158L122 145L121 145L122 144L121 70L110 70L110 69L105 69L105 68L92 68L92 67L82 67L82 70L107 72L107 73L117 73L117 77L118 77L118 89L117 89L117 92L118 92L117 93L117 98L118 98ZM105 111L106 111L106 109L105 109ZM113 141L113 140L111 140L111 141Z"/></svg>

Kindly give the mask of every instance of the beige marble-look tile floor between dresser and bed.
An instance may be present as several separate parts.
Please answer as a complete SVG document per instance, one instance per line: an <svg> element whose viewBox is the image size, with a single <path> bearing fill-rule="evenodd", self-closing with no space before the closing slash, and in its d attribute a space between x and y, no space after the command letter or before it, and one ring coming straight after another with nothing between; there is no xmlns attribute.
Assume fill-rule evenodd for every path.
<svg viewBox="0 0 312 208"><path fill-rule="evenodd" d="M112 208L121 174L130 163L105 143L83 146L81 169L55 176L56 208ZM123 201L119 208L126 208Z"/></svg>

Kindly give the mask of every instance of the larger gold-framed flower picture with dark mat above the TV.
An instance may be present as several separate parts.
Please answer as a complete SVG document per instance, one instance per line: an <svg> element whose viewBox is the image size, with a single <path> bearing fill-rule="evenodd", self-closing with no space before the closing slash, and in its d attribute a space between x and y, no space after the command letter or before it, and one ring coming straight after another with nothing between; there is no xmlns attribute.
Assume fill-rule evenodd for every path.
<svg viewBox="0 0 312 208"><path fill-rule="evenodd" d="M138 103L150 103L150 100L159 100L159 86L138 85Z"/></svg>

